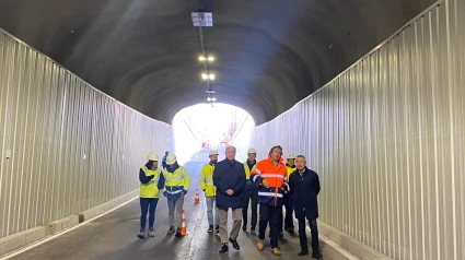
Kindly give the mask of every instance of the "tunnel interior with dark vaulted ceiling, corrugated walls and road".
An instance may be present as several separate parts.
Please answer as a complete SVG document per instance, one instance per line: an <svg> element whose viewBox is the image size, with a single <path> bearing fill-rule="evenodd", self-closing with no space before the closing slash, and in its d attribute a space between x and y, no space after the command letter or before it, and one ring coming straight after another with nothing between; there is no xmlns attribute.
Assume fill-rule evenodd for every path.
<svg viewBox="0 0 465 260"><path fill-rule="evenodd" d="M150 152L208 162L175 116L223 103L251 115L236 159L279 144L317 173L325 259L464 259L463 24L463 0L0 0L0 256L217 259L205 203L182 243L123 233ZM230 257L271 257L241 236Z"/></svg>

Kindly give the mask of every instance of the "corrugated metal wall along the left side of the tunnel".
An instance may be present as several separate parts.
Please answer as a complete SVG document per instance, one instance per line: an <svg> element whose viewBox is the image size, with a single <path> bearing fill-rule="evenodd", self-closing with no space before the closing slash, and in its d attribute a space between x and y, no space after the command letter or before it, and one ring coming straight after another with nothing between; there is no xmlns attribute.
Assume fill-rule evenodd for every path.
<svg viewBox="0 0 465 260"><path fill-rule="evenodd" d="M0 237L137 189L172 134L0 31Z"/></svg>

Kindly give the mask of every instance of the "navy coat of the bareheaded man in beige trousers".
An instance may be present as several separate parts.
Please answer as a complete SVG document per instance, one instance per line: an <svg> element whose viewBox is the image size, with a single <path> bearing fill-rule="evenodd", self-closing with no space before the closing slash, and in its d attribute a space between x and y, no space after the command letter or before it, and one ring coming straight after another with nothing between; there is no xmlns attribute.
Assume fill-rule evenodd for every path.
<svg viewBox="0 0 465 260"><path fill-rule="evenodd" d="M244 165L237 161L223 159L214 166L213 185L217 187L217 208L239 209L243 201L241 193L245 186ZM229 196L226 190L232 189L233 196Z"/></svg>

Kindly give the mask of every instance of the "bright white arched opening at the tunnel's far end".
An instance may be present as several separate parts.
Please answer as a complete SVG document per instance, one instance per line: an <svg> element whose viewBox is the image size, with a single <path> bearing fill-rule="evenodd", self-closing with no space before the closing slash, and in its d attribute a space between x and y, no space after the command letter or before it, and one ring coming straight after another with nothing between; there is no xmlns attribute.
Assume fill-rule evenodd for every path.
<svg viewBox="0 0 465 260"><path fill-rule="evenodd" d="M184 164L202 149L214 149L220 154L218 159L224 159L225 147L234 145L236 159L243 162L246 156L242 152L246 151L254 128L252 116L236 106L216 103L186 107L173 118L177 161Z"/></svg>

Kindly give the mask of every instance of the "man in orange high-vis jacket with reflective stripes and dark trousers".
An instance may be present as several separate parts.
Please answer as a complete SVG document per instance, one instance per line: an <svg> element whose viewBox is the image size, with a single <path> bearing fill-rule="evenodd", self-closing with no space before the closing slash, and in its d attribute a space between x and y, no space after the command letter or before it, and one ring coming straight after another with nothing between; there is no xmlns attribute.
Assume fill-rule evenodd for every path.
<svg viewBox="0 0 465 260"><path fill-rule="evenodd" d="M280 256L278 249L279 220L282 217L282 198L289 190L288 172L282 163L282 147L272 146L268 158L260 161L251 173L251 180L257 182L259 223L258 223L258 250L264 250L264 239L266 227L269 222L271 252Z"/></svg>

